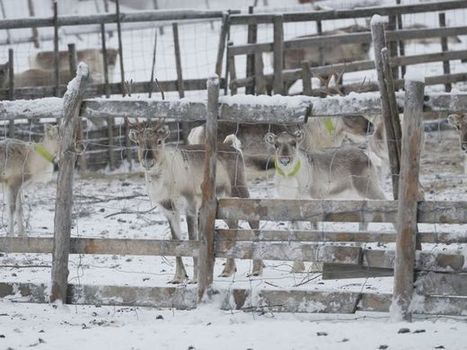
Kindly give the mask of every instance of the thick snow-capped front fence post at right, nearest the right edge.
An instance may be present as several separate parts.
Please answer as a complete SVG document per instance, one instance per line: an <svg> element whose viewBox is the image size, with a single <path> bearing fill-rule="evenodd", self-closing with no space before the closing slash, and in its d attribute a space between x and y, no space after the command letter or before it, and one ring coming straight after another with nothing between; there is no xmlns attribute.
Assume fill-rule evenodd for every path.
<svg viewBox="0 0 467 350"><path fill-rule="evenodd" d="M397 212L396 258L391 313L394 319L411 320L410 302L414 291L415 240L420 152L423 133L424 81L406 76L404 133L402 134L401 176Z"/></svg>

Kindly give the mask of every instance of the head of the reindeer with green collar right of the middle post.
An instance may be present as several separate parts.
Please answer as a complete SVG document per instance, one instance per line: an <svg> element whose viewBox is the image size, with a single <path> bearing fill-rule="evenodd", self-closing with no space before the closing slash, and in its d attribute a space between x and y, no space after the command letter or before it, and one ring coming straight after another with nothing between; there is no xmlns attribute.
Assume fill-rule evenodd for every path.
<svg viewBox="0 0 467 350"><path fill-rule="evenodd" d="M275 148L275 166L279 173L290 175L297 168L299 146L303 141L303 131L297 130L293 135L284 131L279 135L268 132L264 141ZM299 167L299 165L298 165Z"/></svg>

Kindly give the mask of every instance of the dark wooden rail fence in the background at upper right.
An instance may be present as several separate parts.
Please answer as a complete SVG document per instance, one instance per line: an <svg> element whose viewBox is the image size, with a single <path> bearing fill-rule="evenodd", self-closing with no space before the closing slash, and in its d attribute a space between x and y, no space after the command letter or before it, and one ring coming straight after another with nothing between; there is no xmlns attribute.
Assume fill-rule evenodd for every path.
<svg viewBox="0 0 467 350"><path fill-rule="evenodd" d="M342 77L344 73L370 70L375 68L374 61L358 61L346 62L341 64L326 65L320 67L310 67L310 62L302 62L302 67L296 69L283 69L282 55L284 51L316 48L319 52L325 47L342 45L342 44L370 44L372 41L371 33L359 32L348 34L325 35L320 28L323 20L340 20L344 18L368 18L374 14L388 16L389 23L385 33L386 39L389 42L388 49L390 53L390 64L397 88L403 86L403 81L398 79L398 68L400 67L401 75L405 73L407 65L414 65L429 62L443 62L443 75L432 76L427 78L426 85L444 84L446 91L450 91L451 83L466 81L465 73L450 73L449 61L466 60L467 51L450 51L448 49L447 38L450 36L465 35L467 33L466 26L446 27L446 17L444 13L439 13L439 28L426 29L403 29L401 15L412 13L424 13L433 11L447 11L453 9L465 9L467 5L464 1L443 1L412 5L394 5L382 7L368 7L354 10L332 10L332 11L315 11L309 13L285 13L276 14L248 14L248 15L232 15L228 16L224 22L227 29L224 33L224 39L228 36L228 31L234 25L248 25L249 40L247 44L234 45L229 42L226 54L226 71L225 80L228 81L228 87L231 94L235 94L238 88L245 87L247 93L262 94L266 91L273 90L274 93L287 93L286 87L298 79L303 79L304 94L307 95L322 95L329 93L328 90L322 88L313 89L311 86L311 77L323 77L337 73ZM284 40L285 23L311 21L316 22L318 35L308 38L296 38ZM272 24L274 32L273 42L256 43L254 40L258 25ZM221 34L222 36L222 34ZM441 53L423 54L406 56L404 42L411 39L426 39L439 38ZM398 54L399 49L399 54ZM274 73L263 74L262 54L270 52L274 57ZM238 74L235 66L235 57L239 55L247 56L246 77L237 78ZM216 73L221 74L221 65L218 62ZM341 86L339 92L348 93L350 91L377 91L378 85L375 83L356 83ZM335 91L336 93L336 91Z"/></svg>

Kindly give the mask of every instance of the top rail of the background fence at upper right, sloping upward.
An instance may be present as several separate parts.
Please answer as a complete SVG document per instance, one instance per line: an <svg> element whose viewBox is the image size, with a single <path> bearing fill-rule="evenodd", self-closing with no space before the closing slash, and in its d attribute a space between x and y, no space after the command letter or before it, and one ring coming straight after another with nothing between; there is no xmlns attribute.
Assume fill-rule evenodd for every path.
<svg viewBox="0 0 467 350"><path fill-rule="evenodd" d="M431 11L447 11L467 8L467 4L462 0L440 1L432 3L391 5L391 6L369 6L355 9L343 10L323 10L309 12L289 12L284 13L284 22L308 22L332 19L353 19L361 17L371 17L374 14L381 16L395 16L399 14L413 14ZM273 14L252 14L233 15L231 25L246 25L259 23L272 23Z"/></svg>

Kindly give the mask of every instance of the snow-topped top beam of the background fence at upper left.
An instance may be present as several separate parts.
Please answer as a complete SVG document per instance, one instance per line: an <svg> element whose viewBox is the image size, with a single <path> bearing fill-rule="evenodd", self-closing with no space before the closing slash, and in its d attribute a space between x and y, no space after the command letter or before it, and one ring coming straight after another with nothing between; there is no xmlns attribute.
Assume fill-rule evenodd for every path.
<svg viewBox="0 0 467 350"><path fill-rule="evenodd" d="M222 19L225 13L223 11L213 10L146 10L134 12L120 12L120 22L157 22L157 21L183 21L195 19ZM57 18L57 25L64 26L77 26L89 24L103 24L103 23L116 23L117 15L115 13L96 14L96 15L72 15L72 16L59 16ZM15 19L2 19L0 20L0 29L17 29L17 28L41 28L53 27L53 17L26 17Z"/></svg>

